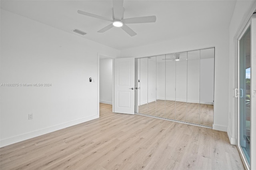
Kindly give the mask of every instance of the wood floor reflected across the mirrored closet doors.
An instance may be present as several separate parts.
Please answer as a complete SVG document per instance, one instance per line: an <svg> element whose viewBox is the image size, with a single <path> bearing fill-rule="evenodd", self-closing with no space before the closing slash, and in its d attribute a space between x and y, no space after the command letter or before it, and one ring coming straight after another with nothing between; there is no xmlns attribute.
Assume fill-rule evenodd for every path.
<svg viewBox="0 0 256 170"><path fill-rule="evenodd" d="M156 100L139 106L139 113L212 127L213 105Z"/></svg>

